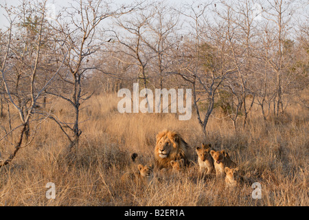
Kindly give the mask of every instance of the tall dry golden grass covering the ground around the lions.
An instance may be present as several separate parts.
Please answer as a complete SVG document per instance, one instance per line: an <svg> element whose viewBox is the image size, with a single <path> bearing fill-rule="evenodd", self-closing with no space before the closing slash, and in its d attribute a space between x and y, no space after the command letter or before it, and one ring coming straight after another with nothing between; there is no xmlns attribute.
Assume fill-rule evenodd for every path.
<svg viewBox="0 0 309 220"><path fill-rule="evenodd" d="M51 101L52 102L52 101ZM211 118L209 142L225 148L233 161L262 185L262 199L253 199L250 185L225 189L222 179L198 177L198 164L179 176L153 179L148 187L124 185L122 175L135 168L130 153L152 160L155 135L179 131L194 148L203 133L194 115L179 121L175 114L120 114L114 95L93 96L84 105L80 146L68 157L67 140L52 121L44 122L31 146L12 164L0 168L1 206L308 206L308 111L295 105L280 119L264 122L255 108L247 129L235 132L229 120ZM69 118L65 103L50 104L59 118ZM7 128L8 118L0 120ZM3 129L2 129L3 130ZM1 136L4 131L1 131ZM0 142L3 157L12 148ZM5 151L6 150L6 151ZM56 199L46 199L48 182ZM181 192L179 194L179 192ZM147 195L147 196L146 196Z"/></svg>

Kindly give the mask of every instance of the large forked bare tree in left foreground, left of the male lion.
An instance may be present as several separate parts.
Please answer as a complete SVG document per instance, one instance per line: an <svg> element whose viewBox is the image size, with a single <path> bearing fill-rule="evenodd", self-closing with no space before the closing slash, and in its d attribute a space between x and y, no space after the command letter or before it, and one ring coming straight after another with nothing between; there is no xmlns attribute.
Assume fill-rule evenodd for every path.
<svg viewBox="0 0 309 220"><path fill-rule="evenodd" d="M87 74L98 69L91 59L95 58L102 45L102 36L98 36L99 24L130 10L132 7L113 5L102 0L74 1L70 7L60 12L54 23L58 41L62 43L60 50L69 50L69 54L64 63L67 70L62 72L59 80L62 88L49 89L47 94L62 98L73 108L72 122L62 122L57 117L50 117L67 136L70 142L69 150L78 144L82 134L80 111L83 108L80 106L94 92L84 90L83 80L87 79Z"/></svg>

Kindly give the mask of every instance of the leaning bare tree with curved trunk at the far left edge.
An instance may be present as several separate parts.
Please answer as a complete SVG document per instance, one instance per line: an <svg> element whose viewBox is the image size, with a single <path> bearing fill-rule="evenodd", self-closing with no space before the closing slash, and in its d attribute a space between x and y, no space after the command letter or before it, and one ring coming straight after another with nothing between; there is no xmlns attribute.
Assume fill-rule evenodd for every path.
<svg viewBox="0 0 309 220"><path fill-rule="evenodd" d="M6 31L6 50L5 55L1 60L1 80L5 90L4 96L7 98L9 104L12 105L19 113L19 125L14 129L10 129L9 132L1 137L0 141L15 131L19 131L19 135L16 142L14 144L12 143L14 145L14 151L8 156L7 159L1 162L0 167L9 164L21 148L30 145L32 140L34 140L40 124L46 119L45 117L32 120L33 115L36 113L35 109L37 108L38 99L41 98L45 89L54 81L64 61L63 60L62 63L57 65L58 68L54 69L52 75L49 76L49 80L42 86L39 86L38 79L42 73L40 60L44 51L43 27L46 23L46 1L36 3L35 7L31 3L24 1L23 8L21 9L8 8L6 5L3 7L7 12L7 18L10 26ZM16 11L13 11L15 9ZM31 42L32 48L34 48L34 50L32 50L32 48L29 49L32 50L31 52L29 52L29 50L25 50L23 53L25 56L21 57L19 52L16 50L16 48L19 46L19 39L14 38L18 37L19 35L14 33L14 31L16 31L14 29L14 20L16 17L19 17L20 14L25 14L25 12L31 12L27 21L29 22L28 25L34 25L33 28L36 28L36 34L32 33L30 36L27 36L27 40L25 40L27 45L29 45ZM35 21L32 20L33 18L35 18ZM26 54L27 58L25 58ZM18 60L16 63L12 61L12 58L14 57ZM23 70L23 74L27 76L25 78L21 78L21 74L19 74L19 71L21 70L19 68L17 68L18 74L12 74L12 72L16 70L15 67L19 64L19 61L22 61L23 65L27 67ZM16 84L18 85L18 89L21 88L19 83L16 83L19 82L19 80L23 81L23 98L20 98L19 93L15 91ZM31 140L27 140L27 143L23 144L23 137L27 133L27 129L30 126L31 120L32 122L36 121L34 133Z"/></svg>

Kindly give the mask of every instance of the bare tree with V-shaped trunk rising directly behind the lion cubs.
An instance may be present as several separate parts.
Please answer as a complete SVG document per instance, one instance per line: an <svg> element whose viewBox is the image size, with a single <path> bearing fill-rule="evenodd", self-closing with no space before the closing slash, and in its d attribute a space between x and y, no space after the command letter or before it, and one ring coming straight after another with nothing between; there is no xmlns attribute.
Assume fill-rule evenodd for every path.
<svg viewBox="0 0 309 220"><path fill-rule="evenodd" d="M218 35L220 27L213 28L207 21L209 5L211 3L186 5L181 14L192 29L181 42L181 50L174 50L176 73L192 87L194 109L206 139L206 126L218 89L236 70L236 66L227 63L226 42ZM203 107L206 107L205 113L201 111Z"/></svg>

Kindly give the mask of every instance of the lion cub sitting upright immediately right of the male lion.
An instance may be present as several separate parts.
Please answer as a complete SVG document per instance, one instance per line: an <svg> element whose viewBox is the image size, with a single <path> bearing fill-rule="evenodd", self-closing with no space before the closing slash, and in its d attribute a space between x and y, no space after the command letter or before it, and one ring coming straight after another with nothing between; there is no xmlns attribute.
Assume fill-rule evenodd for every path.
<svg viewBox="0 0 309 220"><path fill-rule="evenodd" d="M198 164L200 166L200 172L206 174L214 173L214 159L210 155L211 144L202 144L202 147L196 147L196 153L198 155Z"/></svg>

